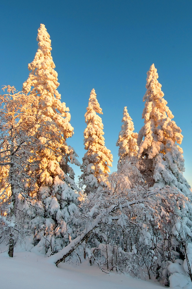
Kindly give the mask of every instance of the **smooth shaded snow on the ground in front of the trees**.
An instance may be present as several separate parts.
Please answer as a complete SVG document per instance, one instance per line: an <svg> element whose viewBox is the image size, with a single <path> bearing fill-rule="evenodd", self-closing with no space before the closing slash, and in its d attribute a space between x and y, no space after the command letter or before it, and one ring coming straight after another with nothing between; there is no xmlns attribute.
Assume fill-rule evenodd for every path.
<svg viewBox="0 0 192 289"><path fill-rule="evenodd" d="M0 250L0 252L2 252ZM85 260L79 265L60 263L58 268L42 254L15 250L10 258L0 253L0 288L6 289L160 289L156 282L142 281L124 274L103 273Z"/></svg>

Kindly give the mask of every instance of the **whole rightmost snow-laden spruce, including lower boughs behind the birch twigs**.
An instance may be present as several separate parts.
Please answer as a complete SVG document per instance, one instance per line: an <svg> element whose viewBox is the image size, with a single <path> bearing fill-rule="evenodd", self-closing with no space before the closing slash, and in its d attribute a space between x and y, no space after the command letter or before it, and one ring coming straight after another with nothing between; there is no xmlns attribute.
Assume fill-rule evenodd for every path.
<svg viewBox="0 0 192 289"><path fill-rule="evenodd" d="M157 78L157 70L152 64L147 72L147 92L143 98L145 108L142 114L145 124L138 135L138 155L145 164L142 174L146 184L167 191L167 197L162 198L158 209L162 210L161 216L166 212L167 225L164 226L164 234L160 242L163 248L162 265L166 267L169 262L178 262L180 259L182 259L181 263L183 261L184 264L187 263L186 243L191 242L192 236L191 204L188 199L191 199L191 188L182 173L184 159L182 149L178 145L183 138L181 129L172 121L173 114L167 107L167 101L163 98L164 94ZM177 201L183 199L183 202L173 206L173 199ZM175 224L179 224L178 231L174 229ZM183 236L187 237L183 238ZM168 267L170 275L174 275L174 270L171 271L174 266ZM162 266L160 267L162 269ZM170 281L173 279L171 276Z"/></svg>

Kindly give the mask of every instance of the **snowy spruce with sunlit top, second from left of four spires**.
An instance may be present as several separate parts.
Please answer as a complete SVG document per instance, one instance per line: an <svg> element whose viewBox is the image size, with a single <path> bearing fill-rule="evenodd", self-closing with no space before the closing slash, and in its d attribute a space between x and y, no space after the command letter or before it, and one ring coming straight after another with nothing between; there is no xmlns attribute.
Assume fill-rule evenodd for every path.
<svg viewBox="0 0 192 289"><path fill-rule="evenodd" d="M84 144L86 153L81 166L83 174L80 177L81 184L86 186L87 192L89 188L105 184L108 172L110 172L109 166L112 166L113 156L111 151L105 147L103 123L97 113L103 114L96 99L95 90L92 89L85 113L87 127L84 131Z"/></svg>

